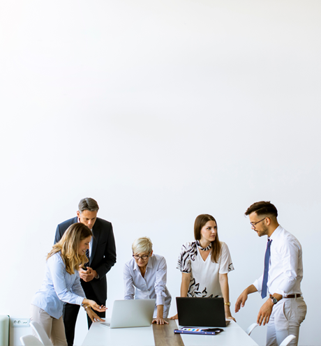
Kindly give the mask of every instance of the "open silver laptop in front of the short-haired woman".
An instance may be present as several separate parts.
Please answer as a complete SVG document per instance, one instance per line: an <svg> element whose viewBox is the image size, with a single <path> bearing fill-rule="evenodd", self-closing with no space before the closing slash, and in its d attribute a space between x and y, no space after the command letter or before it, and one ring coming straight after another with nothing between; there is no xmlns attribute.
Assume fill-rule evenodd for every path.
<svg viewBox="0 0 321 346"><path fill-rule="evenodd" d="M150 326L153 320L156 299L130 299L114 301L110 323L101 322L110 328Z"/></svg>

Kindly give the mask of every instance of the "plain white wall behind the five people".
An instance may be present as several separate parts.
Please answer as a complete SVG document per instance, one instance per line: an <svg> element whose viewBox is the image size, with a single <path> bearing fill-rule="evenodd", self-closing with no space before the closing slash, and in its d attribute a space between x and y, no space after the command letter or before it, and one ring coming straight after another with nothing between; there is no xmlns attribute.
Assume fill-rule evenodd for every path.
<svg viewBox="0 0 321 346"><path fill-rule="evenodd" d="M165 255L179 295L177 256L200 213L230 247L233 304L264 261L244 211L271 200L304 249L299 345L320 345L320 12L320 1L1 1L0 314L29 316L55 228L82 197L114 226L108 314L137 236ZM261 303L253 294L235 315L244 329ZM82 313L77 345L85 333ZM253 338L264 345L265 331Z"/></svg>

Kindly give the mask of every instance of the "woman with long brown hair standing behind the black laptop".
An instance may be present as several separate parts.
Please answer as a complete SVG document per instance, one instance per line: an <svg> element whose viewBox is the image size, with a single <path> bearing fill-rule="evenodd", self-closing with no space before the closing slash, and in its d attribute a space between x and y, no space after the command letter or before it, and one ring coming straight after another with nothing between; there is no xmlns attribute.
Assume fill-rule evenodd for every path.
<svg viewBox="0 0 321 346"><path fill-rule="evenodd" d="M197 216L194 237L195 241L185 243L181 247L177 263L177 269L181 271L181 296L223 296L225 317L234 319L230 313L227 279L227 273L234 270L234 266L230 250L218 239L215 218L209 214ZM177 319L177 315L171 318Z"/></svg>

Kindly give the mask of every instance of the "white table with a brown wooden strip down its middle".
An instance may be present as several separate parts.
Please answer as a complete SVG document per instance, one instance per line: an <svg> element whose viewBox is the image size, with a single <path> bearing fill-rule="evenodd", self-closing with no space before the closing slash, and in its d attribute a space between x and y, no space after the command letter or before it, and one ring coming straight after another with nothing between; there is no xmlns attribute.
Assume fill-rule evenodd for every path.
<svg viewBox="0 0 321 346"><path fill-rule="evenodd" d="M95 322L91 324L82 346L257 346L257 343L234 321L216 336L174 334L176 323L169 321L170 325L165 326L117 329L110 329ZM156 340L154 334L157 335Z"/></svg>

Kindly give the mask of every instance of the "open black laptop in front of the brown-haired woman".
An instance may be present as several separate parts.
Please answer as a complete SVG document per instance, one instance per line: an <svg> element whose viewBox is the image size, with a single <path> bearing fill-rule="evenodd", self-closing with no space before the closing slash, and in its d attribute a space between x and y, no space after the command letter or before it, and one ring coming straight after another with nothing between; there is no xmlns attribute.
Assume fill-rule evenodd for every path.
<svg viewBox="0 0 321 346"><path fill-rule="evenodd" d="M176 297L180 326L227 326L223 298Z"/></svg>

